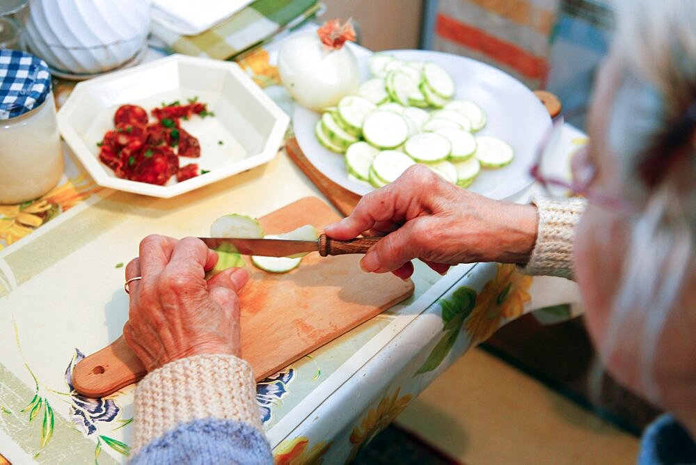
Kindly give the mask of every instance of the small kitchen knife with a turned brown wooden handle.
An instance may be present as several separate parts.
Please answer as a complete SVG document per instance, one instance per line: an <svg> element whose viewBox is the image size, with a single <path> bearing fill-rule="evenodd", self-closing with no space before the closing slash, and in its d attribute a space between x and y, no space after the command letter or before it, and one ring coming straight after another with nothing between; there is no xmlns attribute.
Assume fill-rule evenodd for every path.
<svg viewBox="0 0 696 465"><path fill-rule="evenodd" d="M345 253L365 253L379 242L381 237L358 237L349 241L338 241L319 235L315 241L292 239L244 239L241 237L198 237L209 249L222 252L260 255L265 257L292 257L308 252L319 255L343 255Z"/></svg>

